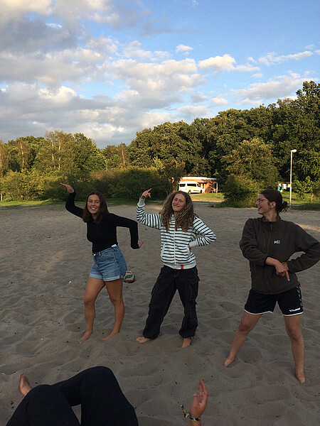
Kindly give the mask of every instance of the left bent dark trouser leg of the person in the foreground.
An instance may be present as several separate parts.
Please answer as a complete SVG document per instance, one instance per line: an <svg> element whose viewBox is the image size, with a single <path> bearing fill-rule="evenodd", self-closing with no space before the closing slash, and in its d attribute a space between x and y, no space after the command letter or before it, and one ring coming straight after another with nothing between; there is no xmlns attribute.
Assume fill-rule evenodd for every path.
<svg viewBox="0 0 320 426"><path fill-rule="evenodd" d="M80 423L54 386L40 385L27 393L7 426L80 426Z"/></svg>

